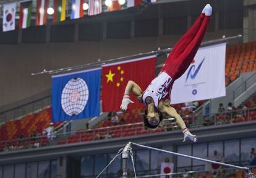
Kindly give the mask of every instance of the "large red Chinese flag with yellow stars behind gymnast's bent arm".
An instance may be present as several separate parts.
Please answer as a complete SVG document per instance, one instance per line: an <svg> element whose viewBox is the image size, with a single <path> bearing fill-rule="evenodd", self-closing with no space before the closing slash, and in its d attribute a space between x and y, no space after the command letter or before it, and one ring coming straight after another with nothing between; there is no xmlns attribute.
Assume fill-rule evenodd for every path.
<svg viewBox="0 0 256 178"><path fill-rule="evenodd" d="M122 61L114 64L107 64L102 68L102 99L103 111L119 111L122 103L122 96L129 80L137 83L142 92L148 87L155 77L156 57L148 56L130 61ZM141 108L137 98L130 93L128 109Z"/></svg>

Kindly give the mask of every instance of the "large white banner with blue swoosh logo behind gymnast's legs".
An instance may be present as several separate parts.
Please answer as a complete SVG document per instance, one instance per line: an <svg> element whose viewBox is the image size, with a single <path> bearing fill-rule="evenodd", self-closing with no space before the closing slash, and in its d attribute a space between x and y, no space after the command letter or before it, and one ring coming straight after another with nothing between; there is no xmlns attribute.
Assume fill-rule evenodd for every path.
<svg viewBox="0 0 256 178"><path fill-rule="evenodd" d="M226 96L226 43L198 49L194 61L173 84L171 104Z"/></svg>

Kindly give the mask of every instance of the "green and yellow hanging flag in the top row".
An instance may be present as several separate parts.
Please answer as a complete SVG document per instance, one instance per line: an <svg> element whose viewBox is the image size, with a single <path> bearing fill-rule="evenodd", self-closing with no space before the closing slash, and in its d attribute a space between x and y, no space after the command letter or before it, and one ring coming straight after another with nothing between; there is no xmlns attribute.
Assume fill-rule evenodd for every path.
<svg viewBox="0 0 256 178"><path fill-rule="evenodd" d="M66 20L66 0L54 0L53 22L61 22Z"/></svg>

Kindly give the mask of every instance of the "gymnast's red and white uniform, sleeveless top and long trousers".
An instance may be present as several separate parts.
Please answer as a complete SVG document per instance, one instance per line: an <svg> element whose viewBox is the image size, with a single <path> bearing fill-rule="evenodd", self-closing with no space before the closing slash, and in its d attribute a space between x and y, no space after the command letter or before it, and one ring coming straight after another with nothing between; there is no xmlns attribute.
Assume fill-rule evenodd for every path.
<svg viewBox="0 0 256 178"><path fill-rule="evenodd" d="M167 57L160 74L143 92L142 102L144 104L146 104L146 98L151 97L154 100L155 108L158 109L160 100L163 98L171 99L170 96L173 82L186 72L194 59L209 22L210 16L203 13L200 14L192 27L190 27L190 29L176 43Z"/></svg>

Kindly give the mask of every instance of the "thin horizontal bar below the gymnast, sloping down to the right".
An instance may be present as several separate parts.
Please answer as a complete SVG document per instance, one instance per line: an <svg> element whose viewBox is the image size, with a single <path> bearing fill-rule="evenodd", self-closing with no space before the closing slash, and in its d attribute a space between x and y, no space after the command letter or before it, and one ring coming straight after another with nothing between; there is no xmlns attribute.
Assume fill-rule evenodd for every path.
<svg viewBox="0 0 256 178"><path fill-rule="evenodd" d="M147 149L150 149L150 150L161 151L161 152L168 153L168 154L171 154L171 155L182 156L182 157L191 158L191 159L197 159L198 161L205 161L205 162L208 162L208 163L220 164L222 166L234 167L236 169L243 169L243 170L246 170L246 171L249 170L248 167L241 167L241 166L234 166L232 164L220 163L220 162L217 162L217 161L211 161L211 160L208 160L208 159L198 158L198 157L195 157L195 156L183 155L181 153L175 153L175 152L172 152L172 151L161 150L161 149L158 149L158 148L153 148L153 147L150 147L150 146L140 145L140 144L137 144L137 143L132 143L132 145L136 145L136 146L139 146L141 148L147 148Z"/></svg>

